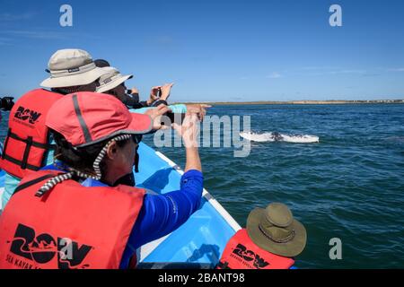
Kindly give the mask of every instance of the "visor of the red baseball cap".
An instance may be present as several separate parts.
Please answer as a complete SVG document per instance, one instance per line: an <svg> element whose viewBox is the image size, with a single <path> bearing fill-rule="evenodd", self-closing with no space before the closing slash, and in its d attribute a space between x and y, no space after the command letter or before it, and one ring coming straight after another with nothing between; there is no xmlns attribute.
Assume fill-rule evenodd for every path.
<svg viewBox="0 0 404 287"><path fill-rule="evenodd" d="M144 114L130 113L132 120L125 129L116 131L110 135L105 135L95 141L76 145L75 147L82 148L95 143L101 143L118 135L145 135L152 131L153 120L152 117Z"/></svg>

